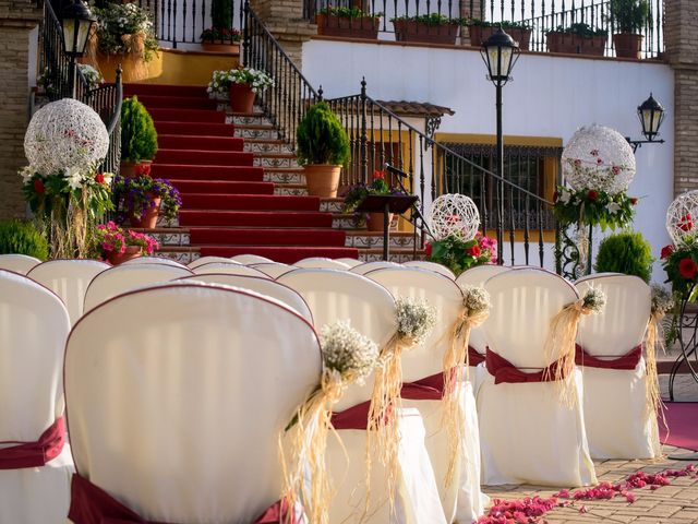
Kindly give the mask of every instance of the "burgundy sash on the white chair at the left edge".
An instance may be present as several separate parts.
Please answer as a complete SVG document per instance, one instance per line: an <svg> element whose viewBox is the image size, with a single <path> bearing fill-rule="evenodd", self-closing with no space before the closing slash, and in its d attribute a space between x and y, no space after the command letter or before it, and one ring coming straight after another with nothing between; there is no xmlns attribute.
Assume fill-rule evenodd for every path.
<svg viewBox="0 0 698 524"><path fill-rule="evenodd" d="M60 455L64 442L65 427L63 417L60 417L41 433L36 442L23 442L0 449L0 469L40 467Z"/></svg>

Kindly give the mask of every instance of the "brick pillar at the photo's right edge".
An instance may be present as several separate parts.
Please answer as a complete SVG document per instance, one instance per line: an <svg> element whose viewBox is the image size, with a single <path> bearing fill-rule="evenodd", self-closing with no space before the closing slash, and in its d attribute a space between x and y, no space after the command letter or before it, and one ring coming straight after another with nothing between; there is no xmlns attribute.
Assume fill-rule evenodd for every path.
<svg viewBox="0 0 698 524"><path fill-rule="evenodd" d="M664 0L665 58L674 69L674 193L698 189L698 1Z"/></svg>

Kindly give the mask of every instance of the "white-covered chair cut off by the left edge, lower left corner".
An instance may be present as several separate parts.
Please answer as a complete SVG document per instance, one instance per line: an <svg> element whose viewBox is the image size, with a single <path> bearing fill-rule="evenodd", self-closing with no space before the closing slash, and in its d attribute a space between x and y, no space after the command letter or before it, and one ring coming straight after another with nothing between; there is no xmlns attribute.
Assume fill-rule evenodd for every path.
<svg viewBox="0 0 698 524"><path fill-rule="evenodd" d="M45 465L15 469L3 449L39 441L63 415L68 311L44 286L0 270L0 522L62 524L74 471L68 443Z"/></svg>

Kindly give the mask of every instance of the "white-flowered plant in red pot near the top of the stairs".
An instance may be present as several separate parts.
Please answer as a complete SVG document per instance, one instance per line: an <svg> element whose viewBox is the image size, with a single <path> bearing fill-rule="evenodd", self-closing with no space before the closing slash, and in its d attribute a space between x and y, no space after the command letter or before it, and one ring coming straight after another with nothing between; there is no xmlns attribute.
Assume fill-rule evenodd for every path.
<svg viewBox="0 0 698 524"><path fill-rule="evenodd" d="M256 95L274 85L272 76L264 71L252 68L214 71L208 83L208 93L214 96L228 94L232 112L251 114Z"/></svg>

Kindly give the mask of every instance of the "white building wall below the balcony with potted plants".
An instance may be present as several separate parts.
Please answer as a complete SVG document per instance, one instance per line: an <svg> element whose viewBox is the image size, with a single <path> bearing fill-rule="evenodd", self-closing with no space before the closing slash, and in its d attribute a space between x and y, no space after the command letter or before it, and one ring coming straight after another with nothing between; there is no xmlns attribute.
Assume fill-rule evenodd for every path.
<svg viewBox="0 0 698 524"><path fill-rule="evenodd" d="M310 40L303 45L303 74L313 85L322 84L327 98L358 93L365 76L369 95L375 99L450 107L456 114L444 117L440 132L496 131L494 86L474 50ZM659 259L660 249L670 241L664 216L674 178L674 76L669 66L522 55L514 81L504 87L503 119L505 135L552 136L566 143L579 127L599 123L640 139L636 108L650 91L666 110L661 130L666 143L638 148L629 194L641 199L635 227ZM664 278L657 262L653 279Z"/></svg>

